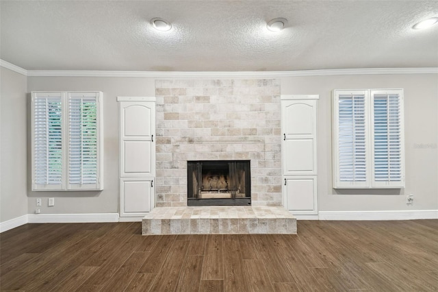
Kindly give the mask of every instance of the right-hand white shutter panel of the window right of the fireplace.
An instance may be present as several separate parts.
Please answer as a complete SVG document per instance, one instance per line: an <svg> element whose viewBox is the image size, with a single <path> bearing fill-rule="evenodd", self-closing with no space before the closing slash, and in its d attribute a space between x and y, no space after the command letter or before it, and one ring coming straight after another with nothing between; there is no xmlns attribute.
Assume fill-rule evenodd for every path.
<svg viewBox="0 0 438 292"><path fill-rule="evenodd" d="M377 187L403 187L403 135L401 90L372 90L374 141L372 184Z"/></svg>

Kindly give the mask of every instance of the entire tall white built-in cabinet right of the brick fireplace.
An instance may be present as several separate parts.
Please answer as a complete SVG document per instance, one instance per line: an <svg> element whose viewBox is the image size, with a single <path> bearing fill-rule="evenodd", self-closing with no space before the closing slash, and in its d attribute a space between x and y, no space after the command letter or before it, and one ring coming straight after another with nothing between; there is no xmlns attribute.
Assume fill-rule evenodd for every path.
<svg viewBox="0 0 438 292"><path fill-rule="evenodd" d="M319 95L282 95L283 204L294 215L318 215L316 124Z"/></svg>

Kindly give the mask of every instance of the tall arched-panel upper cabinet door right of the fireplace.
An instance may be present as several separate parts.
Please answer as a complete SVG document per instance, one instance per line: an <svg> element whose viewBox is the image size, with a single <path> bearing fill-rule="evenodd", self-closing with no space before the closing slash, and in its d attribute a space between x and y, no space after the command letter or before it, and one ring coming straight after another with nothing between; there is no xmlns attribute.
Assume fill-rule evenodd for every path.
<svg viewBox="0 0 438 292"><path fill-rule="evenodd" d="M282 102L283 174L316 175L316 101Z"/></svg>

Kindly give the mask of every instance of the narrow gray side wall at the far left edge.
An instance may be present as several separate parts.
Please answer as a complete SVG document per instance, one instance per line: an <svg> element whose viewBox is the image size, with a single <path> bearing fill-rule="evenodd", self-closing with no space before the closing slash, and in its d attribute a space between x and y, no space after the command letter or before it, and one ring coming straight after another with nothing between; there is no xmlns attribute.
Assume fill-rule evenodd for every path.
<svg viewBox="0 0 438 292"><path fill-rule="evenodd" d="M27 77L0 68L0 222L27 214Z"/></svg>

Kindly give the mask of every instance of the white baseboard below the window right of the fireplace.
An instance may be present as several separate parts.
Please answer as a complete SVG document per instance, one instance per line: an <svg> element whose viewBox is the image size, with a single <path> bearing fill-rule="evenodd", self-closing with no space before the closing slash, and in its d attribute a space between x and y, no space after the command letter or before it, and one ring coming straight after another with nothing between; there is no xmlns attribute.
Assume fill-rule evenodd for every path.
<svg viewBox="0 0 438 292"><path fill-rule="evenodd" d="M438 210L320 211L320 220L415 220L438 219Z"/></svg>

